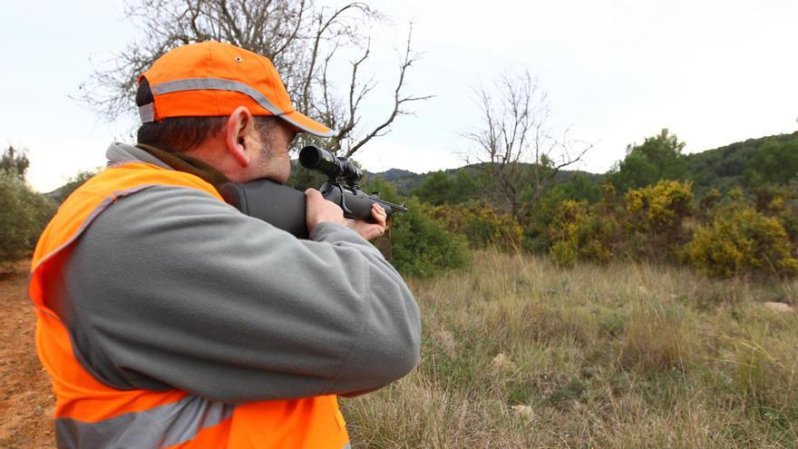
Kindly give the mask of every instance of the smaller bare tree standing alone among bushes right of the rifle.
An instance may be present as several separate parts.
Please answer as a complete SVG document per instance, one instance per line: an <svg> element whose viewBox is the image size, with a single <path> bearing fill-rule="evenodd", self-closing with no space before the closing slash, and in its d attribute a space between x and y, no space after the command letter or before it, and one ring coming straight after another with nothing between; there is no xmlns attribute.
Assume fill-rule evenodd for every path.
<svg viewBox="0 0 798 449"><path fill-rule="evenodd" d="M493 200L522 223L558 173L591 145L569 140L568 131L552 134L547 94L529 72L505 73L492 89L475 93L482 123L464 134L473 143L466 160L488 175Z"/></svg>

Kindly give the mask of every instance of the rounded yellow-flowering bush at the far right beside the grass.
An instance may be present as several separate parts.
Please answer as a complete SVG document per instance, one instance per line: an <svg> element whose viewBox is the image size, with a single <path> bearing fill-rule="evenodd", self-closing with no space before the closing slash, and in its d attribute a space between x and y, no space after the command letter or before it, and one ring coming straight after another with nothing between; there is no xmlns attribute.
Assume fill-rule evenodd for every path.
<svg viewBox="0 0 798 449"><path fill-rule="evenodd" d="M735 204L700 225L685 247L686 258L708 276L792 276L798 259L782 223Z"/></svg>

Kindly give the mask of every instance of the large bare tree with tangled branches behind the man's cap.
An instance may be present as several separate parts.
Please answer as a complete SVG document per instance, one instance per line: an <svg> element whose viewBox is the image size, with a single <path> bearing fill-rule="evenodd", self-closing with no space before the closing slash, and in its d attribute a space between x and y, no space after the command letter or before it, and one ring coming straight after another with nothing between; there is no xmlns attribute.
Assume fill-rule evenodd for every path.
<svg viewBox="0 0 798 449"><path fill-rule="evenodd" d="M407 103L430 98L404 93L407 71L420 57L411 46L411 27L384 119L371 127L361 121L359 108L377 84L361 79L372 51L366 30L385 21L365 3L331 9L316 7L312 0L140 0L126 5L125 15L137 24L141 37L110 65L96 69L78 96L109 119L134 110L137 77L162 54L209 40L271 59L297 110L336 130L332 139L316 143L345 156L389 132L399 115L412 113ZM331 79L331 64L345 52L359 56L349 63L348 87L342 94Z"/></svg>

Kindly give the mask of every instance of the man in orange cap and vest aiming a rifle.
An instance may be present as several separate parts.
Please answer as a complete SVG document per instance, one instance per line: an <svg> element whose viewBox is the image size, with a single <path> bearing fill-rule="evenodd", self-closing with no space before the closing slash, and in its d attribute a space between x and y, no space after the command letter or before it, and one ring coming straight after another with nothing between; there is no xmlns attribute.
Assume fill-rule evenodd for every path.
<svg viewBox="0 0 798 449"><path fill-rule="evenodd" d="M37 348L59 447L348 447L336 395L418 361L418 307L366 239L307 190L310 239L225 204L215 185L287 180L294 111L267 58L172 50L140 77L136 147L63 203L34 253Z"/></svg>

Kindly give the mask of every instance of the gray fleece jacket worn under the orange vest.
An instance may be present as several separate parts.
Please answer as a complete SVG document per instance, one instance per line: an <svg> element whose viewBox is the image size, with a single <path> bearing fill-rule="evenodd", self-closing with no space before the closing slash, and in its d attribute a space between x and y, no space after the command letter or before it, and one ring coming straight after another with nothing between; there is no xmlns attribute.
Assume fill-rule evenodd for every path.
<svg viewBox="0 0 798 449"><path fill-rule="evenodd" d="M119 143L107 157L164 166ZM296 239L199 190L117 200L59 282L75 353L109 386L227 403L356 395L418 362L414 298L355 231L323 222Z"/></svg>

